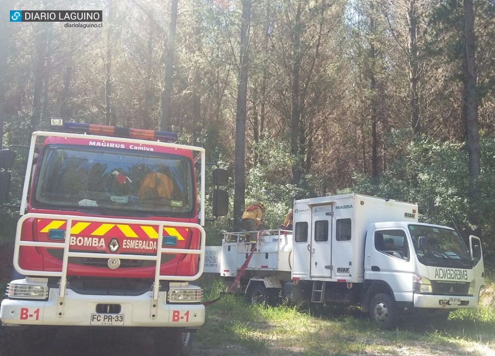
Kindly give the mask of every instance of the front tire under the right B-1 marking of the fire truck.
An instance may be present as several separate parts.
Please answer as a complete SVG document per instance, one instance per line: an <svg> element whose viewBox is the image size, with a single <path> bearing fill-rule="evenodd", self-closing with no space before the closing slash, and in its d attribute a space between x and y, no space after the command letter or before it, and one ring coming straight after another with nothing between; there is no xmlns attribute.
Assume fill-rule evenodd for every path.
<svg viewBox="0 0 495 356"><path fill-rule="evenodd" d="M156 356L189 356L193 347L193 334L176 328L158 328L154 335Z"/></svg>

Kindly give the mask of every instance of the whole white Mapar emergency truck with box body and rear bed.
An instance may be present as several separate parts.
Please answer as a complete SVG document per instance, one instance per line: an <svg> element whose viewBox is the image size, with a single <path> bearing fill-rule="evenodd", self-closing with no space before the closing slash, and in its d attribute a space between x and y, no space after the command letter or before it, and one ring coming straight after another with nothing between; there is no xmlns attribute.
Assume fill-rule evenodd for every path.
<svg viewBox="0 0 495 356"><path fill-rule="evenodd" d="M445 319L476 308L485 285L480 239L471 235L466 247L454 229L418 223L416 204L354 193L295 200L293 235L264 234L240 283L251 301L282 292L296 303L358 305L390 329L407 313ZM206 250L219 255L223 276L250 250L227 237L221 250Z"/></svg>

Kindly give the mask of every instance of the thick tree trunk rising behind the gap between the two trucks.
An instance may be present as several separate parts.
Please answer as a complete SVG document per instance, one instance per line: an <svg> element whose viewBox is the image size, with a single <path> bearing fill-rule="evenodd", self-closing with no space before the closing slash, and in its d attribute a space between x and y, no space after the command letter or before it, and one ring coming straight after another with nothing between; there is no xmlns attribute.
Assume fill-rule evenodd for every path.
<svg viewBox="0 0 495 356"><path fill-rule="evenodd" d="M239 60L239 85L237 87L236 153L234 163L234 227L241 226L241 215L244 211L246 201L246 101L249 65L248 31L251 20L251 1L242 0L241 54Z"/></svg>

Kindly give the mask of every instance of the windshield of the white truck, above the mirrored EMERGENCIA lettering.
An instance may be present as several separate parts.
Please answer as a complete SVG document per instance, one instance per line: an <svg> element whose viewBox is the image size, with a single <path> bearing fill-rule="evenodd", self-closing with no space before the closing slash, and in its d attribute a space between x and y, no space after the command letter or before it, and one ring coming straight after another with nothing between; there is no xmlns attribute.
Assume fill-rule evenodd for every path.
<svg viewBox="0 0 495 356"><path fill-rule="evenodd" d="M431 266L445 265L442 261L456 260L460 265L471 258L466 245L456 231L428 225L409 225L414 249L420 262ZM451 263L447 263L451 266Z"/></svg>

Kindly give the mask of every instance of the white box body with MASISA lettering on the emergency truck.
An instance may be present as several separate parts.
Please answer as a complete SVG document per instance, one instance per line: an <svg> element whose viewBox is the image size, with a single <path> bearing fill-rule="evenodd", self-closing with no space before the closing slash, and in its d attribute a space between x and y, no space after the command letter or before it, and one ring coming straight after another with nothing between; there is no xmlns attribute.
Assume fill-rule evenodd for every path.
<svg viewBox="0 0 495 356"><path fill-rule="evenodd" d="M416 204L361 194L296 200L293 277L362 283L369 224L417 222L417 209Z"/></svg>

